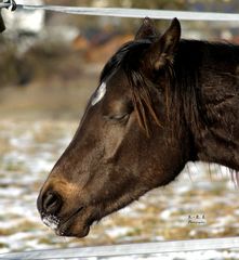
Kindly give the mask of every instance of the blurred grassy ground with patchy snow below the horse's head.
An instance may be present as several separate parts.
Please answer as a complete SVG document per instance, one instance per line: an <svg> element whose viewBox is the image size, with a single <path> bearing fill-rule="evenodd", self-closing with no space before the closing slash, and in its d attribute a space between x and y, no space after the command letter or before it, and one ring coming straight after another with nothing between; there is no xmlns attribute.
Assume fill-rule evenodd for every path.
<svg viewBox="0 0 239 260"><path fill-rule="evenodd" d="M239 235L239 191L225 168L190 164L171 185L155 190L93 226L83 239L57 237L37 212L42 182L77 122L0 123L0 253L165 239ZM189 223L189 219L202 223ZM192 221L194 222L194 221ZM124 259L239 259L238 251L182 252Z"/></svg>

